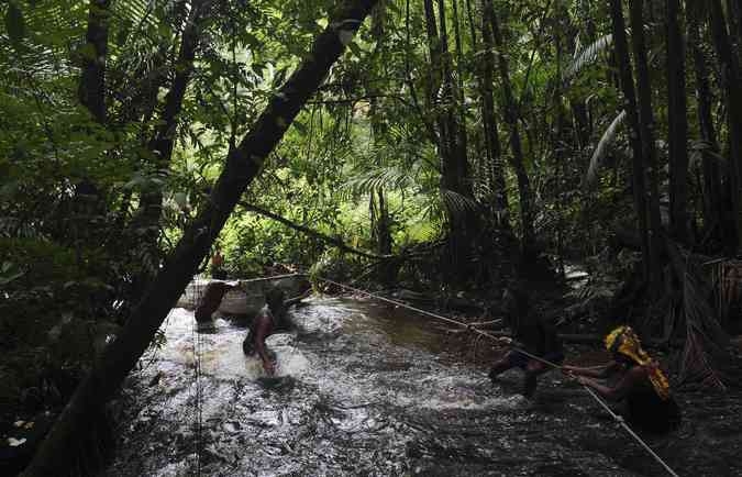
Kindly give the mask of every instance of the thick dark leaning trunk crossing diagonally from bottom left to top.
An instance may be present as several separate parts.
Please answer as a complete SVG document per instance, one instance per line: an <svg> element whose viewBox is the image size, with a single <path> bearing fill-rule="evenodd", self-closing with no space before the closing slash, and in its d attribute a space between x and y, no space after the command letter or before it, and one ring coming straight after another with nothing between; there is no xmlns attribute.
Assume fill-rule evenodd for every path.
<svg viewBox="0 0 742 477"><path fill-rule="evenodd" d="M99 409L115 392L134 367L207 256L240 197L261 171L265 158L324 80L343 53L348 36L358 30L374 3L375 0L344 2L314 41L311 53L268 102L252 131L230 152L201 212L132 311L120 335L104 350L77 388L24 476L57 476L68 469L76 431L91 410Z"/></svg>

